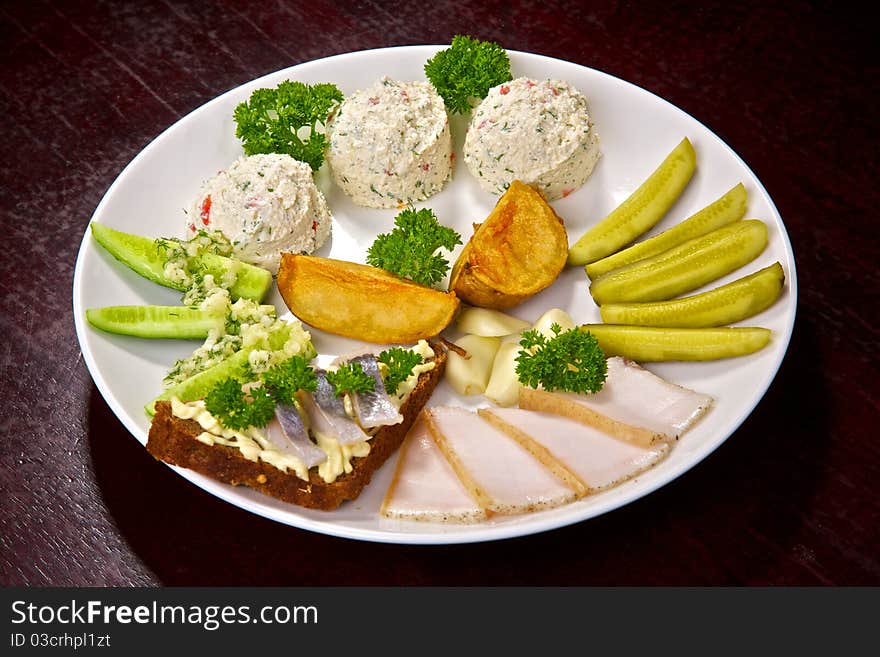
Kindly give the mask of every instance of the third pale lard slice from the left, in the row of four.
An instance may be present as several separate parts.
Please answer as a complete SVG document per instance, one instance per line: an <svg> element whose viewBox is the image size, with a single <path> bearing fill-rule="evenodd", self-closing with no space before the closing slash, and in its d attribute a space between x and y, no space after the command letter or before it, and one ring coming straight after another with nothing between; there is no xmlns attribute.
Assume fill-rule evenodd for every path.
<svg viewBox="0 0 880 657"><path fill-rule="evenodd" d="M575 420L521 408L480 409L479 414L528 450L546 449L590 493L613 488L652 468L669 454L660 442L639 447Z"/></svg>

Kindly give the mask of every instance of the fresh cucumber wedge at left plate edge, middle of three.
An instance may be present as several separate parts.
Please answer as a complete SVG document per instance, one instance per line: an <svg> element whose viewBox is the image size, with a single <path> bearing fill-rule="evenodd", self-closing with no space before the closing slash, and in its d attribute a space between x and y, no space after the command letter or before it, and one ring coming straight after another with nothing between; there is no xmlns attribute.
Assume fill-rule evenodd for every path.
<svg viewBox="0 0 880 657"><path fill-rule="evenodd" d="M222 329L222 313L189 306L107 306L89 308L86 319L95 328L139 338L204 339L211 329Z"/></svg>

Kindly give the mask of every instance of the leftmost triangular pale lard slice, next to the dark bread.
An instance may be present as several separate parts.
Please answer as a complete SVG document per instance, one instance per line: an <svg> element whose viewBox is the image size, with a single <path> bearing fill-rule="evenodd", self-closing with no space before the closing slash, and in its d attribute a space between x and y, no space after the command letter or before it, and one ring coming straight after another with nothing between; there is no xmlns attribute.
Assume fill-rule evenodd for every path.
<svg viewBox="0 0 880 657"><path fill-rule="evenodd" d="M422 414L400 449L380 514L386 518L475 523L486 511L474 501L437 448Z"/></svg>

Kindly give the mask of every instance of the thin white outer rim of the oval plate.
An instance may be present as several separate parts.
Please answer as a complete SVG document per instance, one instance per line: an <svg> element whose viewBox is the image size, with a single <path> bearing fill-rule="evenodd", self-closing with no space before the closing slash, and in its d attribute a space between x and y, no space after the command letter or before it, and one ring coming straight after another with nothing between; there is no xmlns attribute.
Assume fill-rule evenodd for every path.
<svg viewBox="0 0 880 657"><path fill-rule="evenodd" d="M422 51L425 53L428 52L437 52L440 49L448 47L448 44L445 45L431 45L431 44L410 44L410 45L397 45L397 46L388 46L383 48L368 48L362 50L354 50L350 52L344 53L336 53L333 55L328 55L326 57L321 57L318 59L306 60L303 62L299 62L297 64L293 64L288 67L284 67L278 69L276 71L271 71L269 73L263 74L257 78L248 80L242 84L239 84L235 87L229 88L226 91L219 93L213 98L207 100L201 105L193 108L186 114L180 116L173 123L164 128L161 132L159 132L153 139L151 139L145 146L143 146L134 157L129 160L129 162L119 171L119 173L114 178L113 182L107 188L107 190L102 195L100 201L95 207L92 215L89 218L88 224L85 226L85 230L83 232L83 237L80 242L79 249L77 250L76 256L76 264L74 267L74 276L73 276L73 312L74 312L74 324L76 329L77 341L79 343L80 352L83 356L83 360L86 364L86 368L91 376L93 382L95 383L98 392L101 394L105 403L110 407L113 411L113 414L116 416L117 420L122 423L125 429L132 435L132 437L137 440L141 445L146 444L146 440L141 440L141 427L134 424L131 418L128 417L128 413L122 407L119 400L116 399L115 395L112 393L112 390L102 375L100 368L98 366L97 361L95 360L94 354L91 349L84 348L84 345L87 345L87 333L90 331L90 327L85 320L85 308L80 304L80 296L82 292L82 278L84 275L84 268L86 257L85 254L92 247L90 240L90 225L94 221L95 217L99 216L104 207L108 204L109 199L116 193L116 189L123 184L123 181L128 177L129 172L134 169L141 159L149 156L149 151L154 148L154 144L160 142L161 140L167 139L168 135L174 130L174 128L181 122L186 120L191 120L190 117L196 113L207 112L209 108L217 103L222 103L229 95L231 94L240 94L244 93L247 88L253 87L257 88L261 84L264 84L264 81L270 78L276 78L281 76L292 76L295 75L298 69L308 68L309 66L318 66L318 65L327 65L332 64L333 60L346 59L346 58L356 58L363 56L376 56L381 55L383 53L388 53L389 51ZM671 468L668 472L664 472L663 476L657 477L656 480L650 482L650 484L645 485L642 484L639 487L631 487L630 490L625 491L623 494L618 494L615 497L612 497L610 501L602 501L599 503L593 502L591 505L584 508L583 511L574 512L569 514L553 514L550 516L542 516L542 514L529 514L531 518L537 518L537 520L530 520L524 523L511 522L507 524L477 524L477 525L467 525L460 526L454 525L452 526L452 530L449 532L439 532L439 531L412 531L412 532L394 532L394 531L379 531L375 529L366 529L366 528L357 528L351 527L347 525L339 525L334 523L332 517L328 517L327 520L313 520L307 516L297 515L295 513L295 509L297 507L293 507L292 510L281 510L273 508L267 504L261 504L259 502L254 502L249 499L247 496L242 496L242 491L236 487L229 486L227 484L223 484L216 480L213 480L205 475L201 475L192 470L188 470L186 468L181 468L178 466L173 466L168 463L163 464L175 472L181 475L185 479L187 479L190 483L195 484L198 488L203 491L222 499L223 501L232 504L244 511L254 513L255 515L262 516L269 520L273 520L275 522L279 522L281 524L285 524L291 527L295 527L298 529L304 529L307 531L313 531L316 533L321 533L329 536L335 536L339 538L348 538L353 540L361 540L368 542L377 542L377 543L389 543L389 544L410 544L410 545L442 545L442 544L464 544L464 543L476 543L476 542L488 542L495 540L505 540L509 538L516 537L524 537L533 534L539 534L547 531L552 531L555 529L559 529L562 527L566 527L569 525L578 524L580 522L584 522L585 520L589 520L592 518L599 517L604 515L610 511L621 508L623 506L627 506L632 504L633 502L650 495L655 492L659 488L666 486L671 483L673 480L678 479L689 470L693 469L699 463L704 461L710 454L712 454L715 450L717 450L722 444L727 442L727 440L733 436L736 431L740 429L745 420L754 412L755 408L761 403L761 401L766 396L769 391L771 385L773 384L780 367L782 366L782 362L785 359L785 356L788 353L788 349L791 343L791 337L794 331L794 324L797 317L797 307L798 307L798 279L797 279L797 266L795 262L795 254L791 245L791 240L788 235L788 230L785 226L785 223L782 219L782 216L776 206L773 197L769 194L764 183L761 179L755 174L752 168L748 165L748 163L742 158L739 153L737 153L732 146L730 146L726 141L721 139L718 134L712 130L709 126L704 124L702 121L689 114L682 108L678 107L671 101L663 98L655 94L654 92L618 76L615 76L606 71L586 66L584 64L579 64L577 62L572 62L570 60L561 59L558 57L553 57L549 55L544 55L540 53L534 53L523 50L514 50L514 49L505 49L508 55L511 58L511 64L514 64L514 60L517 58L536 58L538 60L545 60L548 62L552 62L553 65L563 66L563 67L576 67L581 69L586 69L591 74L597 74L599 76L607 78L609 81L623 85L632 90L637 91L638 93L648 95L654 102L659 101L664 104L668 108L674 110L678 114L680 114L684 119L688 121L692 121L699 125L701 128L705 130L705 132L710 135L724 150L731 155L735 161L744 169L750 177L751 181L757 186L757 190L764 198L764 200L769 204L770 211L774 215L775 224L778 225L781 230L779 231L779 238L782 242L783 251L785 252L788 258L788 267L786 268L786 285L788 288L788 294L791 297L791 313L787 317L785 327L784 327L784 335L783 331L780 331L778 335L775 335L774 338L780 343L778 347L778 356L775 358L770 367L768 367L764 371L764 376L760 382L760 385L755 386L755 390L759 390L760 392L755 395L755 399L753 403L745 404L747 408L743 408L741 412L737 415L735 420L731 422L731 426L729 431L726 432L726 435L723 435L720 438L715 438L710 441L706 441L702 445L700 445L699 449L694 450L690 457L683 461L677 467ZM725 434L724 431L720 432L720 434ZM570 505L568 505L570 506ZM565 508L565 507L562 507ZM552 511L552 510L550 510ZM544 513L549 513L544 512ZM557 517L559 515L560 517ZM541 519L543 517L543 520ZM428 524L427 528L437 529L438 527L442 527L442 525L434 525ZM525 531L523 531L525 529Z"/></svg>

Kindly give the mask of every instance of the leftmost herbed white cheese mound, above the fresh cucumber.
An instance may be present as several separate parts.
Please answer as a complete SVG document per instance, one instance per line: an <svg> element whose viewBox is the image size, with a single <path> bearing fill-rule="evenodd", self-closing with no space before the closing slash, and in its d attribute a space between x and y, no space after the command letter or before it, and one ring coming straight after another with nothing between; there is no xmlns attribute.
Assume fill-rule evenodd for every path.
<svg viewBox="0 0 880 657"><path fill-rule="evenodd" d="M189 237L219 230L235 257L274 274L283 252L320 248L331 221L308 164L289 155L249 155L203 183L187 211L186 231Z"/></svg>

